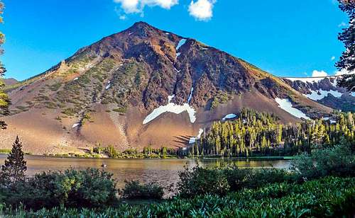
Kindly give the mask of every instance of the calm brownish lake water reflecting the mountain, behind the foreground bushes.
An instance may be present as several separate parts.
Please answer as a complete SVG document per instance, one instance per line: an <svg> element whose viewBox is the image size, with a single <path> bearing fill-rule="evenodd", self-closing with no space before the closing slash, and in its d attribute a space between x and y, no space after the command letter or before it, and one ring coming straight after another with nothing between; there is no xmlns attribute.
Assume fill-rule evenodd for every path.
<svg viewBox="0 0 355 218"><path fill-rule="evenodd" d="M0 164L4 164L6 155L0 154ZM45 156L26 156L27 174L33 175L41 171L64 171L67 168L85 169L102 168L114 173L119 188L124 187L124 180L140 180L144 183L170 185L179 180L178 173L184 166L189 168L199 164L204 167L215 167L223 164L236 164L240 168L289 168L290 161L275 159L70 159Z"/></svg>

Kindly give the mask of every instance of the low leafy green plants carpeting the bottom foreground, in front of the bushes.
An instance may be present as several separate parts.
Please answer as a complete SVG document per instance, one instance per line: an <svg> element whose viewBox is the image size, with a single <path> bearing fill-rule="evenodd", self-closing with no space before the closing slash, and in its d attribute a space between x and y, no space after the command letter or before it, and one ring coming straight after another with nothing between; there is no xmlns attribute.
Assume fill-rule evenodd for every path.
<svg viewBox="0 0 355 218"><path fill-rule="evenodd" d="M151 205L126 205L106 210L6 210L14 217L351 217L355 178L322 178L302 184L269 184L220 197L197 195Z"/></svg>

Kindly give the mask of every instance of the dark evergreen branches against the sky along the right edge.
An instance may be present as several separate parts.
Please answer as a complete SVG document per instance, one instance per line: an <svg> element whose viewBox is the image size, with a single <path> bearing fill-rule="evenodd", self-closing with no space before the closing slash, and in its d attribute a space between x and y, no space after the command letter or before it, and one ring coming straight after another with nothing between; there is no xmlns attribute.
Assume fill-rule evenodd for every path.
<svg viewBox="0 0 355 218"><path fill-rule="evenodd" d="M344 31L338 36L338 39L344 43L345 51L336 67L339 70L346 69L351 72L355 71L355 1L339 0L339 8L349 16L349 27L344 28ZM355 74L342 76L338 85L348 91L355 91Z"/></svg>

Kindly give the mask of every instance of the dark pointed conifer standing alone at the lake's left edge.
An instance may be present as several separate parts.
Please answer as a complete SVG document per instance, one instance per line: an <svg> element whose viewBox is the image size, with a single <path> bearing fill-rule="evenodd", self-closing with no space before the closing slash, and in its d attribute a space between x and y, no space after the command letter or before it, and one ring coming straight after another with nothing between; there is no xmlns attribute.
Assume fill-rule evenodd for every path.
<svg viewBox="0 0 355 218"><path fill-rule="evenodd" d="M27 170L26 161L23 159L22 143L16 137L16 141L12 145L11 152L5 164L1 166L1 182L4 185L10 185L13 182L23 180L25 171Z"/></svg>

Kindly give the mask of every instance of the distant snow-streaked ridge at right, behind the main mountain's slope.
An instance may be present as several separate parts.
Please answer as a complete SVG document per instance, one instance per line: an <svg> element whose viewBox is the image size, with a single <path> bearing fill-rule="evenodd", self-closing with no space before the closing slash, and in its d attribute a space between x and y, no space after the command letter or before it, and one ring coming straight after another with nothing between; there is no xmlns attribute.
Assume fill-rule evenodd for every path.
<svg viewBox="0 0 355 218"><path fill-rule="evenodd" d="M283 78L295 90L329 108L355 112L355 93L337 86L340 76Z"/></svg>

